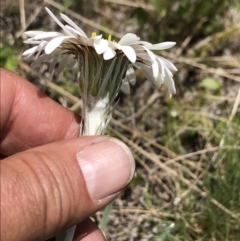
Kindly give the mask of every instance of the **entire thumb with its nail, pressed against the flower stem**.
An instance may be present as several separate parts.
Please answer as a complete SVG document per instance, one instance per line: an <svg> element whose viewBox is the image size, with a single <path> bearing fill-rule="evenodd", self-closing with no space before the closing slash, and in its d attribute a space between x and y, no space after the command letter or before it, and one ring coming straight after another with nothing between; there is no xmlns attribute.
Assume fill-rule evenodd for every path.
<svg viewBox="0 0 240 241"><path fill-rule="evenodd" d="M134 173L128 147L83 137L1 161L1 240L41 240L81 222L122 190Z"/></svg>

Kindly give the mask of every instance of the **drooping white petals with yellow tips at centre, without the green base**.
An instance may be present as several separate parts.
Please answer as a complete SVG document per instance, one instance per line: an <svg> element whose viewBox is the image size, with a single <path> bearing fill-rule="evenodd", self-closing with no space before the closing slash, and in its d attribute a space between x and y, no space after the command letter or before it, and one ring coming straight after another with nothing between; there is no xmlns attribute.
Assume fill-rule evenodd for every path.
<svg viewBox="0 0 240 241"><path fill-rule="evenodd" d="M46 11L63 29L64 33L44 31L28 31L25 33L29 37L25 43L34 44L35 46L26 50L23 56L30 57L36 54L34 64L39 64L52 57L53 61L50 71L54 69L59 61L58 70L61 71L65 66L72 67L77 62L77 52L84 48L92 49L106 61L113 59L116 55L124 55L129 62L121 85L125 93L130 92L129 83L134 84L136 81L133 67L141 69L156 87L159 88L165 83L170 95L176 92L172 74L172 72L177 71L176 67L167 59L152 52L152 50L169 49L175 45L175 42L151 44L141 41L133 33L125 34L118 42L111 41L111 36L108 39L104 39L102 35L94 33L91 37L88 37L66 15L60 14L62 19L67 23L64 25L48 8L46 8ZM40 56L43 50L44 53ZM59 60L59 55L62 54L64 56Z"/></svg>

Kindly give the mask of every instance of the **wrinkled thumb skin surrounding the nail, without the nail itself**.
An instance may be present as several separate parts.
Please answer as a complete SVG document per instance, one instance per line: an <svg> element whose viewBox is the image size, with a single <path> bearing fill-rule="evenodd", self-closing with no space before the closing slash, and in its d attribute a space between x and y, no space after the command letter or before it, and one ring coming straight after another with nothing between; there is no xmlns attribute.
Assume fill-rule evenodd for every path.
<svg viewBox="0 0 240 241"><path fill-rule="evenodd" d="M76 160L76 153L102 138L52 143L1 161L1 240L45 240L113 199L89 197Z"/></svg>

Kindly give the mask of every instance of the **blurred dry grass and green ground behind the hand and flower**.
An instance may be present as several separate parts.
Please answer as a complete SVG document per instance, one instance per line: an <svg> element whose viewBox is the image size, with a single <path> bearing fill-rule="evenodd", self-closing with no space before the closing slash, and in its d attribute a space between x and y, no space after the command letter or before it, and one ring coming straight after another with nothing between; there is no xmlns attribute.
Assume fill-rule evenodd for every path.
<svg viewBox="0 0 240 241"><path fill-rule="evenodd" d="M1 67L80 113L74 71L53 77L21 54L26 30L59 31L44 10L68 15L89 36L132 32L145 41L175 41L156 54L178 68L177 94L156 90L136 71L107 134L132 150L136 174L94 219L108 240L240 240L239 0L1 1Z"/></svg>

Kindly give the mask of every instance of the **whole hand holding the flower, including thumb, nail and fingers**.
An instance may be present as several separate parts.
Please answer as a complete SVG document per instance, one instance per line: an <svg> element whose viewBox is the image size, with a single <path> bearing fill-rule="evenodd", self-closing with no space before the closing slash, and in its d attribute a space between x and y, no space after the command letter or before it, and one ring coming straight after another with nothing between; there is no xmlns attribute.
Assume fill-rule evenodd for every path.
<svg viewBox="0 0 240 241"><path fill-rule="evenodd" d="M77 138L80 117L0 70L1 240L45 240L77 223L74 240L105 240L88 218L131 180L127 146Z"/></svg>

